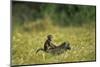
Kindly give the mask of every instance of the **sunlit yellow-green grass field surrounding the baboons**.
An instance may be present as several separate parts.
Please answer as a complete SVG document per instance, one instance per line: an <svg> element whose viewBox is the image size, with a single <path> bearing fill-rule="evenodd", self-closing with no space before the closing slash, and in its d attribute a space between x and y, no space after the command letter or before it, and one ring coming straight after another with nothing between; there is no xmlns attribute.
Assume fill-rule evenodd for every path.
<svg viewBox="0 0 100 67"><path fill-rule="evenodd" d="M69 42L71 50L61 55L42 51L36 54L36 50L43 47L48 34L53 35L56 45ZM59 27L52 24L26 24L13 28L11 49L12 65L94 61L95 25Z"/></svg>

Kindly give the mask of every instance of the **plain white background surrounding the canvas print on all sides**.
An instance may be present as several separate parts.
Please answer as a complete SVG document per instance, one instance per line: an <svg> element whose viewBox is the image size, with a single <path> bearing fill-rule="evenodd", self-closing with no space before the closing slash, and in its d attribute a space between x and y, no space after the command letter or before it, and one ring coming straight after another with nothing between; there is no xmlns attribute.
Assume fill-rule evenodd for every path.
<svg viewBox="0 0 100 67"><path fill-rule="evenodd" d="M21 0L20 0L21 1ZM29 0L28 0L29 1ZM97 6L97 61L39 65L38 67L99 67L100 64L100 0L30 0L37 2L72 3ZM0 0L0 67L10 67L10 0ZM29 67L29 66L28 66Z"/></svg>

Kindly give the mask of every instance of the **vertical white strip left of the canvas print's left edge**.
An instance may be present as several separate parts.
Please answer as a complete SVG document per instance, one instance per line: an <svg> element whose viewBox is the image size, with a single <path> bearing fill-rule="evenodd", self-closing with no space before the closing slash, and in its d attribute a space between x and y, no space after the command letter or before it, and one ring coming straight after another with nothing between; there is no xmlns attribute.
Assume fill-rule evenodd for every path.
<svg viewBox="0 0 100 67"><path fill-rule="evenodd" d="M10 1L0 0L0 67L10 66Z"/></svg>

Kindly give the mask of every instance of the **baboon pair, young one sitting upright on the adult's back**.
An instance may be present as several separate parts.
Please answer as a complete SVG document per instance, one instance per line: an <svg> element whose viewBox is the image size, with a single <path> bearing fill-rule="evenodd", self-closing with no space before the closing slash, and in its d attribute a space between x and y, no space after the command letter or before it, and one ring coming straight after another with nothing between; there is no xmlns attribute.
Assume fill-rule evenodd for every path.
<svg viewBox="0 0 100 67"><path fill-rule="evenodd" d="M44 51L47 53L52 53L52 54L61 54L63 53L65 50L70 50L70 44L63 42L61 45L59 46L55 46L52 43L52 35L48 35L47 36L47 40L44 43L44 48L40 48L36 51L36 53L38 53L39 51Z"/></svg>

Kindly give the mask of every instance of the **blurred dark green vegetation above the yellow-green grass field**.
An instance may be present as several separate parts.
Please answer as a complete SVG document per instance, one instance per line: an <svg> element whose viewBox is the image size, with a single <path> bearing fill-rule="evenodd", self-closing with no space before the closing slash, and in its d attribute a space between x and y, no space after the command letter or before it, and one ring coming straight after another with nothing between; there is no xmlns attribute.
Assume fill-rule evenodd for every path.
<svg viewBox="0 0 100 67"><path fill-rule="evenodd" d="M12 22L15 25L47 18L59 26L82 26L96 21L95 6L16 1L12 5Z"/></svg>

